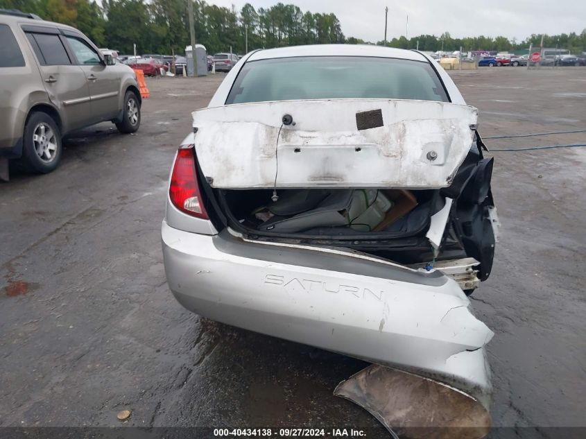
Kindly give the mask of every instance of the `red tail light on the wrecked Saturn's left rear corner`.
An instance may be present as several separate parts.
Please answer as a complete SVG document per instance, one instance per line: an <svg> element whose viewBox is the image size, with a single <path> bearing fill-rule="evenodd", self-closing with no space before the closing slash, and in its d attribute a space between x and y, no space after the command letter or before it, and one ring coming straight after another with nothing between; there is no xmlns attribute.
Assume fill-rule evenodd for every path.
<svg viewBox="0 0 586 439"><path fill-rule="evenodd" d="M171 203L184 214L209 219L198 186L193 145L182 146L177 152L171 173L169 198Z"/></svg>

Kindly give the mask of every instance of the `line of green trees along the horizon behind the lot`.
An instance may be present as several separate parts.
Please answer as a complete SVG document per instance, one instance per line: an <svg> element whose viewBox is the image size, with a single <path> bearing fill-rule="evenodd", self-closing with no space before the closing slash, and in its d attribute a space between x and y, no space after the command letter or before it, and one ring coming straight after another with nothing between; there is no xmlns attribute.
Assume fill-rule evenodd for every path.
<svg viewBox="0 0 586 439"><path fill-rule="evenodd" d="M89 0L0 0L0 8L33 12L43 19L58 21L78 28L98 46L132 53L183 53L190 44L188 1L193 1L196 41L208 53L292 46L298 44L384 44L345 37L335 14L302 11L292 4L277 3L270 8L255 9L246 3L241 10L209 4L203 0L103 0L102 6ZM366 24L365 24L366 25ZM370 24L368 24L370 26ZM382 25L381 25L382 28ZM449 33L439 37L419 35L395 37L387 46L422 51L510 51L539 46L586 51L586 29L582 33L531 35L517 42L507 37L453 38Z"/></svg>

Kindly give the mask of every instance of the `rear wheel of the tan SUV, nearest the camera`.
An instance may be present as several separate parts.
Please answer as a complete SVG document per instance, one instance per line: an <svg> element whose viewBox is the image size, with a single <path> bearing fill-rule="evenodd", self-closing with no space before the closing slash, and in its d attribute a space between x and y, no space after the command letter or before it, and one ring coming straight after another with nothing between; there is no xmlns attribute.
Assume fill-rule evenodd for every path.
<svg viewBox="0 0 586 439"><path fill-rule="evenodd" d="M24 126L23 158L31 171L49 173L61 160L61 132L49 114L33 112Z"/></svg>

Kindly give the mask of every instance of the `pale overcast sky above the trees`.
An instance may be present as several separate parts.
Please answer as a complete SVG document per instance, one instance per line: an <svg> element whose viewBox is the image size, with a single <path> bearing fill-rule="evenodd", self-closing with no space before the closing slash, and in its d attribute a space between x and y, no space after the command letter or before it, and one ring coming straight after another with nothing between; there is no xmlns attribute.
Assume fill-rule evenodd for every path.
<svg viewBox="0 0 586 439"><path fill-rule="evenodd" d="M532 33L580 33L586 28L586 0L281 0L303 12L334 12L346 37L380 41L384 38L384 9L388 6L388 40L405 35L449 32L452 37L504 35L523 40ZM278 0L207 0L240 10L245 3L267 8Z"/></svg>

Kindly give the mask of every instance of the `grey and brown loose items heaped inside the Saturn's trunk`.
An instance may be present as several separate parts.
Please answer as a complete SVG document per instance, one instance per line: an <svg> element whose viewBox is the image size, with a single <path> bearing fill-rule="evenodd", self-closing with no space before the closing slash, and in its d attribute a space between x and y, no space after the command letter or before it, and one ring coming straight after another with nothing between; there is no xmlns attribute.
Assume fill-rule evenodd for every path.
<svg viewBox="0 0 586 439"><path fill-rule="evenodd" d="M329 239L414 236L442 207L437 190L281 189L273 194L252 189L223 194L225 206L248 230Z"/></svg>

